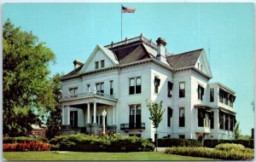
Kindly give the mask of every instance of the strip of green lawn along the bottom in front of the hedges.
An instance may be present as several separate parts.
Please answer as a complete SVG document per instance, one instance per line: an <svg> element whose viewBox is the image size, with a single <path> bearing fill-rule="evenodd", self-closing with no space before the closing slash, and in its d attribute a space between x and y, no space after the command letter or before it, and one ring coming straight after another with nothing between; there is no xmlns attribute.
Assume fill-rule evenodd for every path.
<svg viewBox="0 0 256 162"><path fill-rule="evenodd" d="M6 160L212 160L156 152L85 153L85 152L3 152Z"/></svg>

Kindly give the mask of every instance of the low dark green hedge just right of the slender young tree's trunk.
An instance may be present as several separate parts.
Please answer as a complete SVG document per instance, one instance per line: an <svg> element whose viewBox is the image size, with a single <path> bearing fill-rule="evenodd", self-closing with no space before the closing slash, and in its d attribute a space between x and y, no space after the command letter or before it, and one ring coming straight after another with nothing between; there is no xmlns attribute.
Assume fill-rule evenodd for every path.
<svg viewBox="0 0 256 162"><path fill-rule="evenodd" d="M172 148L172 147L201 147L201 142L192 139L181 138L159 138L157 139L158 147L160 148Z"/></svg>

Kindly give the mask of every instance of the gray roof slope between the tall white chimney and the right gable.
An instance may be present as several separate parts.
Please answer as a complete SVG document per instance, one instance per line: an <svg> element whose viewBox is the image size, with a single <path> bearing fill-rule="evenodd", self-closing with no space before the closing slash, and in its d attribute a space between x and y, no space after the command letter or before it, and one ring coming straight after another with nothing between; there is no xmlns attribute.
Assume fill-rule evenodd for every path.
<svg viewBox="0 0 256 162"><path fill-rule="evenodd" d="M180 69L184 67L195 67L195 63L203 49L196 49L193 51L185 52L177 55L170 55L166 57L166 61L174 69Z"/></svg>

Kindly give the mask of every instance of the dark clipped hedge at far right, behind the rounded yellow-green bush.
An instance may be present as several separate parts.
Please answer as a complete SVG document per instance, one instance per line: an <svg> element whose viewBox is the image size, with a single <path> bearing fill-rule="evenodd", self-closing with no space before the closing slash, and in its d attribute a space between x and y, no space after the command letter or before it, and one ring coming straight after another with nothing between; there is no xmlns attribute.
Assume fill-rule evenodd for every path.
<svg viewBox="0 0 256 162"><path fill-rule="evenodd" d="M236 143L241 144L245 148L254 148L254 140L210 140L204 141L204 147L215 148L220 143Z"/></svg>

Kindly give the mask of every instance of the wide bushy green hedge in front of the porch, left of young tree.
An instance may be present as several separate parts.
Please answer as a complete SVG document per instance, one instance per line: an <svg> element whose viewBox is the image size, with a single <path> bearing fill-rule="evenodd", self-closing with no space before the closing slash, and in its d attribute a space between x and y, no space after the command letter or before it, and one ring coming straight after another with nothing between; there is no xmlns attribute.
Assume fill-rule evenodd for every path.
<svg viewBox="0 0 256 162"><path fill-rule="evenodd" d="M154 144L137 136L56 136L49 141L52 150L78 152L139 152L153 151Z"/></svg>

